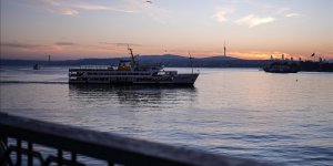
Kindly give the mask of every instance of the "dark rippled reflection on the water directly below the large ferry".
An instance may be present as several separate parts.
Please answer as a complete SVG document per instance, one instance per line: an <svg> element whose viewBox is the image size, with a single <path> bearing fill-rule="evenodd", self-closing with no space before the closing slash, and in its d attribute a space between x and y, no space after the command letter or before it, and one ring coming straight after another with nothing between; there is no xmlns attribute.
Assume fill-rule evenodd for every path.
<svg viewBox="0 0 333 166"><path fill-rule="evenodd" d="M196 96L194 86L70 84L69 90L72 102L93 102L97 106L130 106L135 111L153 107L162 110L161 107L170 104L191 104Z"/></svg>

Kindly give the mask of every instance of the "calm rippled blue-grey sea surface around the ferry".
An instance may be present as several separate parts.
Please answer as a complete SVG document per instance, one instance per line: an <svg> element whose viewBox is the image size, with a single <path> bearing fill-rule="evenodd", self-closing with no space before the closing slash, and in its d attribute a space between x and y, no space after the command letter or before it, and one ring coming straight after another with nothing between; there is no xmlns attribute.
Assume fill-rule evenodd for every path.
<svg viewBox="0 0 333 166"><path fill-rule="evenodd" d="M68 68L1 66L0 111L273 165L333 165L333 73L199 70L186 89L69 85Z"/></svg>

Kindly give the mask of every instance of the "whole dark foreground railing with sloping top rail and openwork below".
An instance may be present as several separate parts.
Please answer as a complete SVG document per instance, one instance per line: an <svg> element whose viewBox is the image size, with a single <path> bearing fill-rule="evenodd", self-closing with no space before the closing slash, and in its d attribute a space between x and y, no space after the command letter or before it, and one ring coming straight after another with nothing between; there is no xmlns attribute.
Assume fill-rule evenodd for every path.
<svg viewBox="0 0 333 166"><path fill-rule="evenodd" d="M46 155L33 145L54 148L58 153ZM70 157L65 158L64 153L70 154ZM250 159L209 154L0 113L0 166L22 165L22 157L27 158L24 160L27 165L54 165L54 163L85 165L78 160L78 155L105 160L109 165L124 166L262 165Z"/></svg>

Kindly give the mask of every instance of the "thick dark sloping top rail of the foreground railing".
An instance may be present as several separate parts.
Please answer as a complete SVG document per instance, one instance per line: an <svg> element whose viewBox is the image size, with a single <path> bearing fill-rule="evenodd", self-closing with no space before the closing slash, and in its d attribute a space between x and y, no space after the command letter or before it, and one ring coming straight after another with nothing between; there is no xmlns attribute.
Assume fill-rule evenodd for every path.
<svg viewBox="0 0 333 166"><path fill-rule="evenodd" d="M130 165L262 165L251 159L210 154L117 134L83 129L0 113L0 136L26 139L46 146Z"/></svg>

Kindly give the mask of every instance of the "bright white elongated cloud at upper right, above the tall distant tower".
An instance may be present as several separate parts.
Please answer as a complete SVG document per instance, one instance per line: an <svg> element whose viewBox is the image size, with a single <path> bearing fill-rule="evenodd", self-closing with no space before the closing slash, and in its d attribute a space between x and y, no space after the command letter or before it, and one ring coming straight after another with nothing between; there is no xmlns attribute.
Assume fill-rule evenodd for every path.
<svg viewBox="0 0 333 166"><path fill-rule="evenodd" d="M244 18L241 18L241 19L236 20L235 23L245 24L249 28L253 28L253 27L270 23L270 22L273 22L273 21L275 21L275 19L272 18L272 17L258 17L258 15L254 15L254 14L249 14Z"/></svg>

